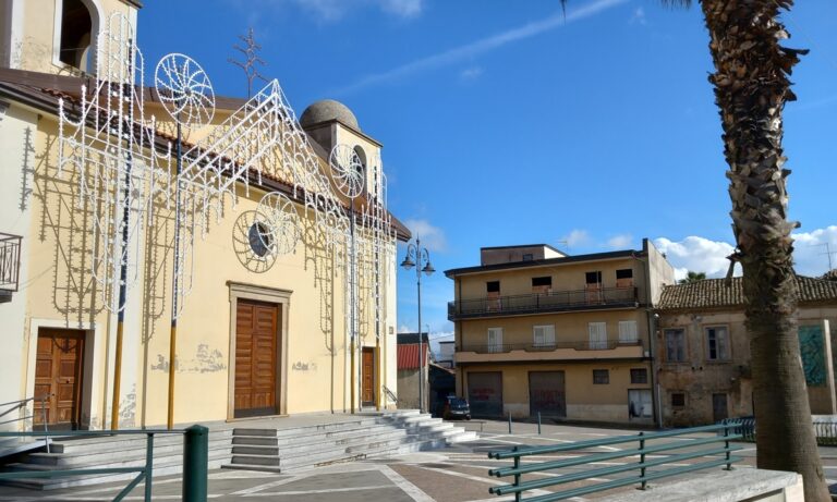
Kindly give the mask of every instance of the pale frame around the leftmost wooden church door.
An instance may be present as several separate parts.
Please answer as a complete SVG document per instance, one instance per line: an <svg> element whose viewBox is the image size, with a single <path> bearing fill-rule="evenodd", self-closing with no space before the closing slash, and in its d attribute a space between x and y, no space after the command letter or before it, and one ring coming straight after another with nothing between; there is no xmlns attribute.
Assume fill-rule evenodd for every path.
<svg viewBox="0 0 837 502"><path fill-rule="evenodd" d="M96 367L99 362L96 360L96 356L98 355L95 351L95 341L96 341L96 328L95 325L90 322L78 322L74 327L68 326L66 320L57 320L57 319L43 319L43 318L29 318L29 330L28 330L28 347L27 347L27 362L26 362L26 393L22 399L25 397L32 397L35 395L35 367L37 366L37 359L38 359L38 332L40 329L54 329L54 330L71 330L71 331L83 331L84 332L84 347L82 351L82 381L81 387L78 389L80 395L80 403L78 403L78 428L80 429L89 429L90 423L96 421L96 417L93 415L93 403L95 400L101 400L101 392L105 392L107 394L108 389L96 389L94 388L94 376L93 376L93 368ZM104 357L104 355L101 355ZM110 369L110 366L108 366L108 369ZM107 378L107 377L106 377ZM106 380L110 385L112 385L112 381ZM94 395L97 394L97 395ZM29 404L26 406L26 409L29 415L34 413L35 405ZM25 424L23 424L23 428L26 430L32 430L33 427L33 420L26 420ZM96 424L94 424L96 425ZM104 424L98 424L99 426L104 427Z"/></svg>

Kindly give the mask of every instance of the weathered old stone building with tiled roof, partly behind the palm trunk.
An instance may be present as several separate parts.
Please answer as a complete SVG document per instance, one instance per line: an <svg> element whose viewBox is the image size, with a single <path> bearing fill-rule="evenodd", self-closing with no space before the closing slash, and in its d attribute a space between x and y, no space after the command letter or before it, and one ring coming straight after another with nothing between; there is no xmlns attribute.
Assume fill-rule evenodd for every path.
<svg viewBox="0 0 837 502"><path fill-rule="evenodd" d="M830 280L829 280L830 278ZM837 279L797 277L799 338L813 414L837 413L832 340ZM657 381L666 426L753 414L750 341L741 278L663 290L657 306Z"/></svg>

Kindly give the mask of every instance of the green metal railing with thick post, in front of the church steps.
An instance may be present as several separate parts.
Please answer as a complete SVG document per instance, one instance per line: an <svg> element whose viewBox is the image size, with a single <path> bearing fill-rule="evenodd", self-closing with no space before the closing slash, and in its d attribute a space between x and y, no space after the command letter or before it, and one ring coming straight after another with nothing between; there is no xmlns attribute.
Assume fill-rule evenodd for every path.
<svg viewBox="0 0 837 502"><path fill-rule="evenodd" d="M34 478L58 478L66 476L90 476L136 473L125 488L113 498L119 502L125 498L137 485L145 481L146 502L150 502L153 494L154 476L154 437L160 434L183 436L183 501L205 502L207 499L207 464L209 453L209 429L203 426L192 426L187 429L144 429L144 430L73 430L49 432L0 432L0 438L101 438L120 436L145 436L145 465L136 467L90 467L54 470L16 470L0 472L0 481L14 481Z"/></svg>

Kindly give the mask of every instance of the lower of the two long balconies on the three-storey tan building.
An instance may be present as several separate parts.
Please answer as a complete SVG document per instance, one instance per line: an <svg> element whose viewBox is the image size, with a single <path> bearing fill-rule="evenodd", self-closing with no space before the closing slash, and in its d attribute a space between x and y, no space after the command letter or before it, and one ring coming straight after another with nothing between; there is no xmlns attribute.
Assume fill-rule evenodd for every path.
<svg viewBox="0 0 837 502"><path fill-rule="evenodd" d="M525 360L641 359L645 351L638 341L578 341L549 344L512 343L463 345L457 348L457 364L510 363Z"/></svg>

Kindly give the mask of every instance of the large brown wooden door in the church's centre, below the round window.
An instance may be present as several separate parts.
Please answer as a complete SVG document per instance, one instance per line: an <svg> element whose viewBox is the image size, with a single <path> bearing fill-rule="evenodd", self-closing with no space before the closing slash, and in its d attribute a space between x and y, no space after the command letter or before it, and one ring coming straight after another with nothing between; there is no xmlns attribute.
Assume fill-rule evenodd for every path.
<svg viewBox="0 0 837 502"><path fill-rule="evenodd" d="M279 307L239 301L235 315L235 417L275 415Z"/></svg>

